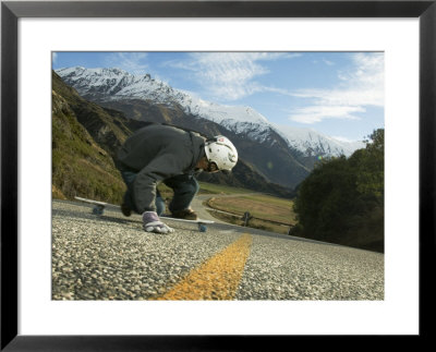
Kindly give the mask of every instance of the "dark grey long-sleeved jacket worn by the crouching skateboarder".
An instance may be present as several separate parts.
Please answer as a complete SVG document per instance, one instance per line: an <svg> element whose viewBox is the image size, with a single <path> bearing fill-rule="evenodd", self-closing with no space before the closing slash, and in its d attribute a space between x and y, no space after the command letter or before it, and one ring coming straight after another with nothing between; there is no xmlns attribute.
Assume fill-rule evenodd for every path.
<svg viewBox="0 0 436 352"><path fill-rule="evenodd" d="M155 209L156 185L178 174L194 174L205 138L195 132L152 124L136 131L118 153L120 171L137 173L133 185L136 209Z"/></svg>

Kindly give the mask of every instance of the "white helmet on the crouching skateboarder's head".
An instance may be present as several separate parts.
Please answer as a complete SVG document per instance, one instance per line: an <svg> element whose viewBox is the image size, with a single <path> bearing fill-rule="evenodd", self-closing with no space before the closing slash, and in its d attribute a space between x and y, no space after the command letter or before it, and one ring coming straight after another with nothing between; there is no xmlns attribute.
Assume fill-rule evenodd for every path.
<svg viewBox="0 0 436 352"><path fill-rule="evenodd" d="M238 162L237 148L222 135L207 139L205 151L207 160L215 162L219 170L230 171Z"/></svg>

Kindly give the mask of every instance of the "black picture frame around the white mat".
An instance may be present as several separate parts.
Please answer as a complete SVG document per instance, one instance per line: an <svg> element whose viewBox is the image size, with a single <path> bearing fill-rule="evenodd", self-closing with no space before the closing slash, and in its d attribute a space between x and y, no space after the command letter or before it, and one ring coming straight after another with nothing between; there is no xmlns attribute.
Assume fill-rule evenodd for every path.
<svg viewBox="0 0 436 352"><path fill-rule="evenodd" d="M420 333L432 331L435 254L436 1L4 1L1 3L1 351L209 351L279 347L288 337L21 336L17 306L20 17L419 17ZM404 185L407 192L408 185ZM427 260L432 262L428 263ZM429 270L428 270L429 269ZM429 272L428 272L429 271ZM262 343L261 340L262 339ZM270 341L271 340L271 341ZM272 347L272 345L271 345Z"/></svg>

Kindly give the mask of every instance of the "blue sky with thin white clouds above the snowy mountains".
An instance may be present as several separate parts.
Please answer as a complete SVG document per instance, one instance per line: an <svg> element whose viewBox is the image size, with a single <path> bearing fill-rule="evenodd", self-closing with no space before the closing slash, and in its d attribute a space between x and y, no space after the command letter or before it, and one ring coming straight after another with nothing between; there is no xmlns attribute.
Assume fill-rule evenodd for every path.
<svg viewBox="0 0 436 352"><path fill-rule="evenodd" d="M250 106L277 124L361 141L384 128L382 52L55 52L53 69L150 74L204 100Z"/></svg>

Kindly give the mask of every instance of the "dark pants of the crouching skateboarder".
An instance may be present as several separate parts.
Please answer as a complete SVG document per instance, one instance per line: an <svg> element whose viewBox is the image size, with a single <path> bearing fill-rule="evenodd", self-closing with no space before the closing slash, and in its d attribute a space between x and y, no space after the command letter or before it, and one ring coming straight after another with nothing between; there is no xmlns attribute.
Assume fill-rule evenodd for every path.
<svg viewBox="0 0 436 352"><path fill-rule="evenodd" d="M124 204L129 206L135 213L140 213L134 204L134 190L133 185L135 182L136 173L132 171L121 171L121 175L124 180L128 191L124 194ZM172 189L174 196L168 208L171 213L183 210L190 207L192 199L197 194L199 186L198 182L193 175L179 174L173 178L164 180L164 183ZM135 195L141 196L141 195ZM156 189L156 213L161 215L165 213L165 201L160 195L160 192Z"/></svg>

